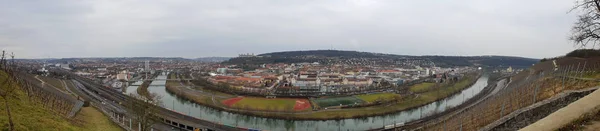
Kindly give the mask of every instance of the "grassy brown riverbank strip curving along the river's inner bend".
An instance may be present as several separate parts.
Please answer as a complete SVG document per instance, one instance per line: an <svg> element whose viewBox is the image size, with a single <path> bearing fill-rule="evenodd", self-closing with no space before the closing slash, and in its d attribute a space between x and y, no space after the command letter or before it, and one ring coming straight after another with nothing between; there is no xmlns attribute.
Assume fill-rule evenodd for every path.
<svg viewBox="0 0 600 131"><path fill-rule="evenodd" d="M419 95L415 95L413 97L409 97L398 102L362 108L330 109L307 112L272 112L228 108L223 105L220 105L220 103L218 103L219 101L216 100L218 98L215 98L215 95L207 95L206 93L203 94L202 92L195 91L193 89L189 89L182 86L176 86L175 84L179 84L178 81L167 81L166 90L170 93L193 101L197 104L211 107L221 111L234 112L238 114L287 120L339 120L349 118L381 116L418 108L423 105L431 104L437 100L444 99L456 93L460 93L460 91L472 86L479 77L480 74L470 75L451 86L439 88L439 90L437 91L425 92Z"/></svg>

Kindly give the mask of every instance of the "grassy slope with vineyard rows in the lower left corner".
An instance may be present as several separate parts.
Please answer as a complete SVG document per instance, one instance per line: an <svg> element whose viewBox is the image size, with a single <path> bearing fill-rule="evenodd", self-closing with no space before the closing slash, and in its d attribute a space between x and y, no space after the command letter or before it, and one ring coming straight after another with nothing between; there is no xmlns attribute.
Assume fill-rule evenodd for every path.
<svg viewBox="0 0 600 131"><path fill-rule="evenodd" d="M6 80L5 74L3 72L1 74L0 83ZM71 122L57 113L31 102L29 98L27 98L27 95L21 90L16 90L13 94L13 97L9 100L9 106L17 131L121 131L120 127L112 124L108 120L108 117L93 108L84 108L77 113L77 117L87 117L80 117L82 119L79 119L79 122ZM0 108L0 130L8 130L8 117L4 100L0 101L0 106L2 107Z"/></svg>

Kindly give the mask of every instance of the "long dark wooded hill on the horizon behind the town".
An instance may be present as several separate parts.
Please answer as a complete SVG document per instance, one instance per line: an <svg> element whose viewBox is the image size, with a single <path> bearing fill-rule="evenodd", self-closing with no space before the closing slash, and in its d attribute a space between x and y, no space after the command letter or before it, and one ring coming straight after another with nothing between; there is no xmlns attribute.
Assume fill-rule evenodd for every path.
<svg viewBox="0 0 600 131"><path fill-rule="evenodd" d="M324 64L355 64L369 63L371 65L404 64L440 67L450 66L493 66L493 67L529 67L538 59L512 56L408 56L358 51L341 50L309 50L285 51L260 54L258 57L236 57L224 61L224 64L258 65L267 63L302 63L319 62ZM411 64L406 64L406 63Z"/></svg>

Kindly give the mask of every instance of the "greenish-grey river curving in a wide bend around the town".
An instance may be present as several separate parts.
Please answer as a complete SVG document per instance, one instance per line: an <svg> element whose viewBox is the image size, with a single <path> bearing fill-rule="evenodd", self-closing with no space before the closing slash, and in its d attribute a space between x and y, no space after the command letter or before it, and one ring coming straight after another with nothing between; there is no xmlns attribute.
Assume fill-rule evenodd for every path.
<svg viewBox="0 0 600 131"><path fill-rule="evenodd" d="M159 75L157 79L166 78L167 75L162 74ZM457 93L443 100L436 101L411 110L405 110L384 116L328 121L281 120L218 111L209 107L195 104L191 101L179 98L175 94L167 92L165 88L166 81L164 80L155 80L154 82L152 82L152 84L150 84L150 87L148 88L148 91L152 93L157 93L158 95L162 96L161 100L163 103L163 107L165 108L174 109L175 111L183 114L188 114L196 118L215 121L226 125L270 131L353 131L381 128L385 125L392 125L394 123L410 122L412 120L417 120L421 117L432 115L435 112L444 111L448 107L460 105L464 101L469 100L470 98L481 92L483 88L487 86L487 82L488 76L483 75L482 77L477 79L477 82L475 84L461 91L460 93ZM135 90L136 88L137 87L130 86L128 87L127 92L129 93L130 90L133 92L133 90Z"/></svg>

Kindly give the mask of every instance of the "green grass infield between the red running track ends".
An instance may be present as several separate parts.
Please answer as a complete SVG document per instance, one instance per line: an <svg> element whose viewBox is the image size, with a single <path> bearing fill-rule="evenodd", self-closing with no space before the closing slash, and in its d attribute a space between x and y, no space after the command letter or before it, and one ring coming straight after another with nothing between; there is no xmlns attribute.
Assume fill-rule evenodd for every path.
<svg viewBox="0 0 600 131"><path fill-rule="evenodd" d="M253 110L276 110L276 111L290 111L294 109L296 104L295 99L267 99L257 97L245 97L241 101L233 104L233 107L245 109L246 106Z"/></svg>

